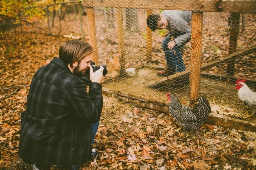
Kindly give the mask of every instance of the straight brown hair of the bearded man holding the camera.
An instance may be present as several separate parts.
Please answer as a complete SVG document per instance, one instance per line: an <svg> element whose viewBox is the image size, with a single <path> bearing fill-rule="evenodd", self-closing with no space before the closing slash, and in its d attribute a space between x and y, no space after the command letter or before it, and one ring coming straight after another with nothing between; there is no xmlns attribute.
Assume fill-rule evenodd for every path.
<svg viewBox="0 0 256 170"><path fill-rule="evenodd" d="M80 60L93 51L94 48L84 41L68 40L60 46L59 59L66 65L70 64L70 67L73 68L74 62L80 63Z"/></svg>

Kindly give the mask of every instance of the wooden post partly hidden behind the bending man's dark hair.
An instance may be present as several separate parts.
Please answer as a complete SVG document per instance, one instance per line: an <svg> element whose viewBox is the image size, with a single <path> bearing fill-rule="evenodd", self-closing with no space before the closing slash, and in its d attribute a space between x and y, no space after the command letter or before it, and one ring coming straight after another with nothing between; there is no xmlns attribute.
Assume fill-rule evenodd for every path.
<svg viewBox="0 0 256 170"><path fill-rule="evenodd" d="M147 18L152 14L151 9L146 10ZM147 26L147 44L146 44L146 62L150 64L152 62L152 30Z"/></svg>

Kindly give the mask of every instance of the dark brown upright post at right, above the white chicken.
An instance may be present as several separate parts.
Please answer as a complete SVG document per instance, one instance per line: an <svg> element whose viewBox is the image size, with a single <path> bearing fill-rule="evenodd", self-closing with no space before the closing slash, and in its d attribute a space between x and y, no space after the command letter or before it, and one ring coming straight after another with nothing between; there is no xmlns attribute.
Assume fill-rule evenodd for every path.
<svg viewBox="0 0 256 170"><path fill-rule="evenodd" d="M230 14L230 39L229 39L229 55L236 52L238 33L239 33L239 19L240 13L231 13ZM235 68L235 60L228 61L227 75L233 76Z"/></svg>

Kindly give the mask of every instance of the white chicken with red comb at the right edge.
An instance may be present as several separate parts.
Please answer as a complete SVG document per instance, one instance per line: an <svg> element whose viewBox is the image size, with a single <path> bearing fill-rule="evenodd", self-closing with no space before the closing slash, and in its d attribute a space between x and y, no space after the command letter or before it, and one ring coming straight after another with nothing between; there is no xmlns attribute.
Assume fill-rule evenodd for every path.
<svg viewBox="0 0 256 170"><path fill-rule="evenodd" d="M252 91L246 84L245 79L236 80L236 90L238 90L238 98L245 105L252 109L252 113L256 113L256 92Z"/></svg>

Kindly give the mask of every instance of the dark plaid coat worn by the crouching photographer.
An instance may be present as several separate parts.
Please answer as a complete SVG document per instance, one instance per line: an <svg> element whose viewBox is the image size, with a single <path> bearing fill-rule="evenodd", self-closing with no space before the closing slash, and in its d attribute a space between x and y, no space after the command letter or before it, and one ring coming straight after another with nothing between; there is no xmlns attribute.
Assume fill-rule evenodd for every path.
<svg viewBox="0 0 256 170"><path fill-rule="evenodd" d="M34 74L21 114L19 156L27 162L80 165L92 159L91 123L101 116L102 86L86 84L54 57Z"/></svg>

